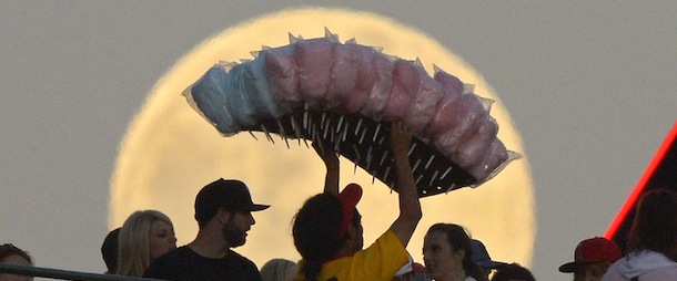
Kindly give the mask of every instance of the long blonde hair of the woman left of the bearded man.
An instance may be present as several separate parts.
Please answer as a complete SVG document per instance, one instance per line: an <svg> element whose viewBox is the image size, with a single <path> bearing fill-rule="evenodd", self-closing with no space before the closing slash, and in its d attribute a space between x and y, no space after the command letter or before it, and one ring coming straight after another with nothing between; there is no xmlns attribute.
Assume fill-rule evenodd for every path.
<svg viewBox="0 0 677 281"><path fill-rule="evenodd" d="M150 230L155 221L172 226L170 218L156 210L135 211L122 225L118 237L117 274L141 277L151 264Z"/></svg>

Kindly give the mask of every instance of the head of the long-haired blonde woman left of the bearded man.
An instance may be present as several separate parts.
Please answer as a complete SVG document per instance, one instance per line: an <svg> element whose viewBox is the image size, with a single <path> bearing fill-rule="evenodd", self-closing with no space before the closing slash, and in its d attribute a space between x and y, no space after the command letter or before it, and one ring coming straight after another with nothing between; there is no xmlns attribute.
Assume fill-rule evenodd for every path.
<svg viewBox="0 0 677 281"><path fill-rule="evenodd" d="M176 248L172 221L156 210L135 211L122 225L118 247L115 272L141 277L154 259Z"/></svg>

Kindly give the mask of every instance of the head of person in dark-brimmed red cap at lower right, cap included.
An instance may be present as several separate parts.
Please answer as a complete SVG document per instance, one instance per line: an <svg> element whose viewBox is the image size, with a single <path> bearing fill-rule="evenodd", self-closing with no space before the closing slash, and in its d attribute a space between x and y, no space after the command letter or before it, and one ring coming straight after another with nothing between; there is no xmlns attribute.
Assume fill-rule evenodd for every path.
<svg viewBox="0 0 677 281"><path fill-rule="evenodd" d="M586 239L576 247L574 261L562 264L559 272L574 273L574 281L599 281L620 257L620 248L616 242L604 237Z"/></svg>

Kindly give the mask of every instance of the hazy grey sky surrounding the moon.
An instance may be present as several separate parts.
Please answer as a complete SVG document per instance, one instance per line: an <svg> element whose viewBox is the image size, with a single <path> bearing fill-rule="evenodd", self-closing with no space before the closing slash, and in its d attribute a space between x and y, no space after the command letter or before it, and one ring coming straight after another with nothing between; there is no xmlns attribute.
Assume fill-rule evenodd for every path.
<svg viewBox="0 0 677 281"><path fill-rule="evenodd" d="M322 2L418 29L493 86L529 156L539 280L572 279L557 267L604 235L677 119L674 1ZM158 79L214 33L307 3L0 2L0 242L102 272L118 145Z"/></svg>

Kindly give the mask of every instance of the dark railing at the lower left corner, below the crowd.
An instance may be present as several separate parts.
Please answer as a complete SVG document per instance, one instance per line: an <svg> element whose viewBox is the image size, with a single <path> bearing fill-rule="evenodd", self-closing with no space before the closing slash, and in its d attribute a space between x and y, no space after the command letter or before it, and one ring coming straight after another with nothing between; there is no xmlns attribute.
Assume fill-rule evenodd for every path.
<svg viewBox="0 0 677 281"><path fill-rule="evenodd" d="M159 281L159 279L99 274L60 269L27 267L0 262L0 273L83 281Z"/></svg>

